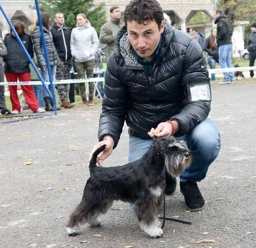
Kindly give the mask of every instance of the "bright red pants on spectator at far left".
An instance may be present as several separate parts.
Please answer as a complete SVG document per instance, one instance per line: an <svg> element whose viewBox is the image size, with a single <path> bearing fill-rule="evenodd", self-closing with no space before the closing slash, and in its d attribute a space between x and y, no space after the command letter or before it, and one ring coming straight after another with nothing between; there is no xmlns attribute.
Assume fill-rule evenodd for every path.
<svg viewBox="0 0 256 248"><path fill-rule="evenodd" d="M19 78L19 81L31 81L29 72L25 72L25 73L4 72L4 74L8 82L17 82L18 78ZM17 85L8 85L8 88L10 92L10 100L12 102L12 110L21 111L21 104L17 94ZM37 102L37 97L33 90L33 86L21 85L21 89L24 94L25 100L29 105L29 108L33 112L36 112L37 109L40 107Z"/></svg>

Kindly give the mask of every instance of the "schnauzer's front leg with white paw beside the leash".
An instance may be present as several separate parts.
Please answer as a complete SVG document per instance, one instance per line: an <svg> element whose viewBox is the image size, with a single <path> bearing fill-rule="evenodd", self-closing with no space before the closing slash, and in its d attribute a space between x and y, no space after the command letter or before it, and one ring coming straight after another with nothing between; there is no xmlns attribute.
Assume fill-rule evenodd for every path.
<svg viewBox="0 0 256 248"><path fill-rule="evenodd" d="M150 196L136 203L140 228L152 238L159 238L163 234L157 216L157 199L157 196Z"/></svg>

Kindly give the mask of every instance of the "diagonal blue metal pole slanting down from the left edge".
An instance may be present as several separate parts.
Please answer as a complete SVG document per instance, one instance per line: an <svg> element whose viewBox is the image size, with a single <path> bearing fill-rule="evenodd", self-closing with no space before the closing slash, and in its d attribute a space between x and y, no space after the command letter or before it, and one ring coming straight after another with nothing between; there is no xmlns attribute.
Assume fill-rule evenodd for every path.
<svg viewBox="0 0 256 248"><path fill-rule="evenodd" d="M43 78L42 78L42 76L41 76L41 73L38 71L38 69L37 69L37 67L36 67L36 65L35 65L35 63L34 63L34 61L33 61L32 58L30 57L30 55L29 55L27 49L25 48L24 44L22 43L22 41L21 41L21 39L20 39L18 33L16 32L16 30L15 30L15 28L13 27L11 21L9 20L8 16L6 15L6 13L5 13L5 11L4 11L4 8L2 8L1 3L0 3L0 9L1 9L1 12L3 13L3 15L4 15L6 21L8 22L10 28L12 29L12 32L13 32L13 34L15 35L16 40L17 40L18 43L20 44L20 46L21 46L23 52L25 52L25 54L26 54L26 56L27 56L27 59L29 60L30 64L33 66L35 72L37 73L38 78L41 80L43 86L45 87L45 90L47 91L47 93L48 93L49 95L51 95L51 92L50 92L49 89L48 89L48 85L45 84L45 81L43 80ZM54 98L54 99L55 99L55 98ZM55 101L55 102L56 102L56 101ZM56 114L56 113L55 113L55 114Z"/></svg>

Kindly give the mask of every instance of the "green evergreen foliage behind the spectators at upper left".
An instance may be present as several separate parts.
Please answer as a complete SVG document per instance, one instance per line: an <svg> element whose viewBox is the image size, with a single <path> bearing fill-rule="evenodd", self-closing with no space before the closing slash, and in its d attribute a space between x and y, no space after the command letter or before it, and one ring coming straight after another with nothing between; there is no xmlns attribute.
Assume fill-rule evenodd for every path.
<svg viewBox="0 0 256 248"><path fill-rule="evenodd" d="M76 26L76 16L84 13L98 35L101 26L107 20L105 4L95 5L93 0L39 0L39 7L41 12L50 12L51 20L54 20L56 12L62 12L65 16L65 24L70 28Z"/></svg>

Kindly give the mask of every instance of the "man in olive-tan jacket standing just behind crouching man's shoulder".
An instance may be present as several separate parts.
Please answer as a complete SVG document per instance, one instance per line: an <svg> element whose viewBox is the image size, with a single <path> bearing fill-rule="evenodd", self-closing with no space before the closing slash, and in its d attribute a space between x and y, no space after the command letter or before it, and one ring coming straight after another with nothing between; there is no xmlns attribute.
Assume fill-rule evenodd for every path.
<svg viewBox="0 0 256 248"><path fill-rule="evenodd" d="M112 6L109 10L110 20L102 25L99 32L99 41L107 45L107 60L115 49L116 34L122 25L120 20L121 11L118 6Z"/></svg>

